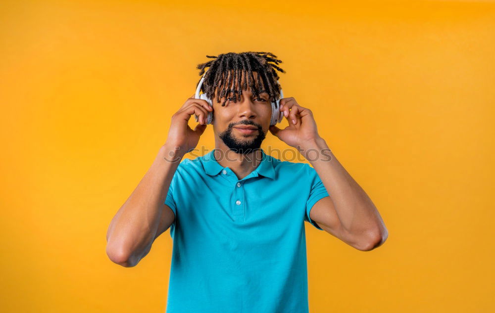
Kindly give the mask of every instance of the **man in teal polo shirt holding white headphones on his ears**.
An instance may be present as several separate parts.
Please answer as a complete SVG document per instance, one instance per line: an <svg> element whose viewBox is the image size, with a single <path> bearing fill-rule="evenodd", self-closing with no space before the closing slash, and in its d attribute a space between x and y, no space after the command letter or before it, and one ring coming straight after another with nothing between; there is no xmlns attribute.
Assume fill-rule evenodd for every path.
<svg viewBox="0 0 495 313"><path fill-rule="evenodd" d="M109 226L107 254L133 267L170 227L167 313L307 313L304 221L361 251L380 246L387 229L318 134L310 109L283 98L289 126L270 126L270 102L280 96L275 69L284 72L275 55L208 57L215 60L198 69L203 75L209 67L202 91L213 107L191 97L172 116L165 144ZM209 112L215 149L183 159ZM260 148L267 131L312 167L267 155Z"/></svg>

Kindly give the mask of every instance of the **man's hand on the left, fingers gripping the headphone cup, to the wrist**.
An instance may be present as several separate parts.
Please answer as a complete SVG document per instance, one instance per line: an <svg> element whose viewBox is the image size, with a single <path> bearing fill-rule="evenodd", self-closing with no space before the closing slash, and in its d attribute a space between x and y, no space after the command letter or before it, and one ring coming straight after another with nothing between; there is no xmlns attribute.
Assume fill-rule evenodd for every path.
<svg viewBox="0 0 495 313"><path fill-rule="evenodd" d="M172 123L168 130L165 145L178 149L177 153L186 154L192 151L199 142L199 137L206 129L206 116L213 108L206 100L195 99L194 94L184 102L181 108L172 115ZM198 125L192 130L188 122L193 114L198 116Z"/></svg>

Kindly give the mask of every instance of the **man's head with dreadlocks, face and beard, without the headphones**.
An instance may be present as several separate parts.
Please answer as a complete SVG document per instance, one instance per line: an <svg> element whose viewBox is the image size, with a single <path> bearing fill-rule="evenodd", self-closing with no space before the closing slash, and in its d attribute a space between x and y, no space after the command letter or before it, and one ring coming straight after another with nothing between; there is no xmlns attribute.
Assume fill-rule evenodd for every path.
<svg viewBox="0 0 495 313"><path fill-rule="evenodd" d="M203 75L201 87L213 100L213 129L225 145L239 154L259 149L272 114L271 102L280 97L275 69L282 61L270 52L225 53L209 56L215 60L198 64ZM275 64L269 63L274 62ZM254 128L253 131L241 128Z"/></svg>

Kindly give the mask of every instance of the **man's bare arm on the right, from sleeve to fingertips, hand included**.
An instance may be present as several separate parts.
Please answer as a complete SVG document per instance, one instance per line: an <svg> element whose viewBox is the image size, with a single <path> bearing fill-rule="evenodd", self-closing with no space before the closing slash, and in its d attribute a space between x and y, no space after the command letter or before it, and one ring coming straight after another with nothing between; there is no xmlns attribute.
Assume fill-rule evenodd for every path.
<svg viewBox="0 0 495 313"><path fill-rule="evenodd" d="M313 112L300 106L294 97L281 99L280 111L284 112L289 126L281 130L272 125L270 132L297 148L330 195L313 204L308 217L358 250L369 251L380 246L387 239L387 228L371 199L318 134ZM311 153L315 150L317 155Z"/></svg>

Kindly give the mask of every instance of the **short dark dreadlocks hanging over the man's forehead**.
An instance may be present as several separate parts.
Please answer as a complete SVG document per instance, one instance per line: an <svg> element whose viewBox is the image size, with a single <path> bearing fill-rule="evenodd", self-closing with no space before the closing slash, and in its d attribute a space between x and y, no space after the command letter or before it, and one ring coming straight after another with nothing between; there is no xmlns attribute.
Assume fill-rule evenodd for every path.
<svg viewBox="0 0 495 313"><path fill-rule="evenodd" d="M271 102L275 102L280 97L280 84L277 82L279 76L275 69L282 73L285 71L277 66L282 61L276 59L276 55L270 52L249 51L221 53L218 56L206 55L206 57L214 58L214 60L198 64L196 68L201 70L199 75L202 76L205 72L204 69L208 67L201 90L210 99L216 95L217 102L220 102L220 98L225 97L233 81L234 86L237 82L237 89L233 90L234 86L232 88L234 102L237 102L237 93L241 99L242 90L247 90L248 85L254 96L258 96L259 92L264 89L269 94ZM241 82L242 72L245 73L244 82ZM253 72L256 72L257 84L255 84ZM217 88L218 91L215 94ZM225 106L225 103L226 99L222 106Z"/></svg>

